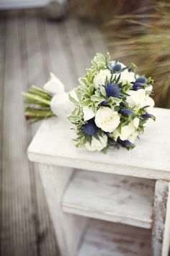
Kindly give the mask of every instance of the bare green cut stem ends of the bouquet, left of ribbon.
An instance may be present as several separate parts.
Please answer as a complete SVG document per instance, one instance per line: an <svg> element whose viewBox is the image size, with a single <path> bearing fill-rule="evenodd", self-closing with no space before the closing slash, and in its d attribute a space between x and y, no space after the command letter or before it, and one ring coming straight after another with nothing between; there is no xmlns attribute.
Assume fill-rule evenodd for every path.
<svg viewBox="0 0 170 256"><path fill-rule="evenodd" d="M24 103L27 103L24 109L24 116L31 124L35 123L35 121L55 116L50 109L52 96L39 86L32 85L22 95L25 97Z"/></svg>

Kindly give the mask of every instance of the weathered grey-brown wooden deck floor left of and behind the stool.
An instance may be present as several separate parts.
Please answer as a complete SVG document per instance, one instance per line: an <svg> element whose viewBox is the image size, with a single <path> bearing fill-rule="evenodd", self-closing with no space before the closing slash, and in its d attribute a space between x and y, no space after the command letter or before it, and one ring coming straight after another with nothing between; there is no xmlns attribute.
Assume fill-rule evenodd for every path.
<svg viewBox="0 0 170 256"><path fill-rule="evenodd" d="M107 51L97 29L68 18L45 19L42 9L0 12L0 254L58 255L37 166L27 161L37 126L24 121L20 95L53 71L67 90L77 85L94 53Z"/></svg>

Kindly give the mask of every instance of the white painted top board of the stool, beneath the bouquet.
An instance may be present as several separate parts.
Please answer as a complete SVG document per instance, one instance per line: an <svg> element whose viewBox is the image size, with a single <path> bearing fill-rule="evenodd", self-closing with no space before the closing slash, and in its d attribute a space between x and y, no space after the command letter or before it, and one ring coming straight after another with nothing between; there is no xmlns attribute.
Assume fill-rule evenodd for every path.
<svg viewBox="0 0 170 256"><path fill-rule="evenodd" d="M138 176L147 179L170 179L170 110L154 108L156 122L149 121L146 132L136 142L136 148L91 153L76 148L71 139L76 135L70 124L58 119L44 121L30 147L30 161L56 166L82 168L112 174Z"/></svg>

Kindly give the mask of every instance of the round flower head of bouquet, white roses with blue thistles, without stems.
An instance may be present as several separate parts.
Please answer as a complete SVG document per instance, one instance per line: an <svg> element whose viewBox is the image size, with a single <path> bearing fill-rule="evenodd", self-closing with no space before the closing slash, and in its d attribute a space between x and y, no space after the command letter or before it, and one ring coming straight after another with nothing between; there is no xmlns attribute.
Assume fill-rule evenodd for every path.
<svg viewBox="0 0 170 256"><path fill-rule="evenodd" d="M115 148L118 145L132 149L135 139L144 132L154 106L149 96L153 80L135 74L135 64L126 67L110 56L96 54L74 95L74 104L68 120L74 125L77 147L88 150Z"/></svg>

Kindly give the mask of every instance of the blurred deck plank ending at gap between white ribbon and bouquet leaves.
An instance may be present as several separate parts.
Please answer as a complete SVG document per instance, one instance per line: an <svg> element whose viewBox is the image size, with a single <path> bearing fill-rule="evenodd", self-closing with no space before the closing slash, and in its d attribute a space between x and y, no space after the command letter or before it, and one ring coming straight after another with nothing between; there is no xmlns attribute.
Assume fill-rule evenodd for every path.
<svg viewBox="0 0 170 256"><path fill-rule="evenodd" d="M66 90L71 90L77 83L77 77L73 70L74 59L65 25L63 22L50 22L46 19L45 30L50 57L49 69L63 82Z"/></svg>

